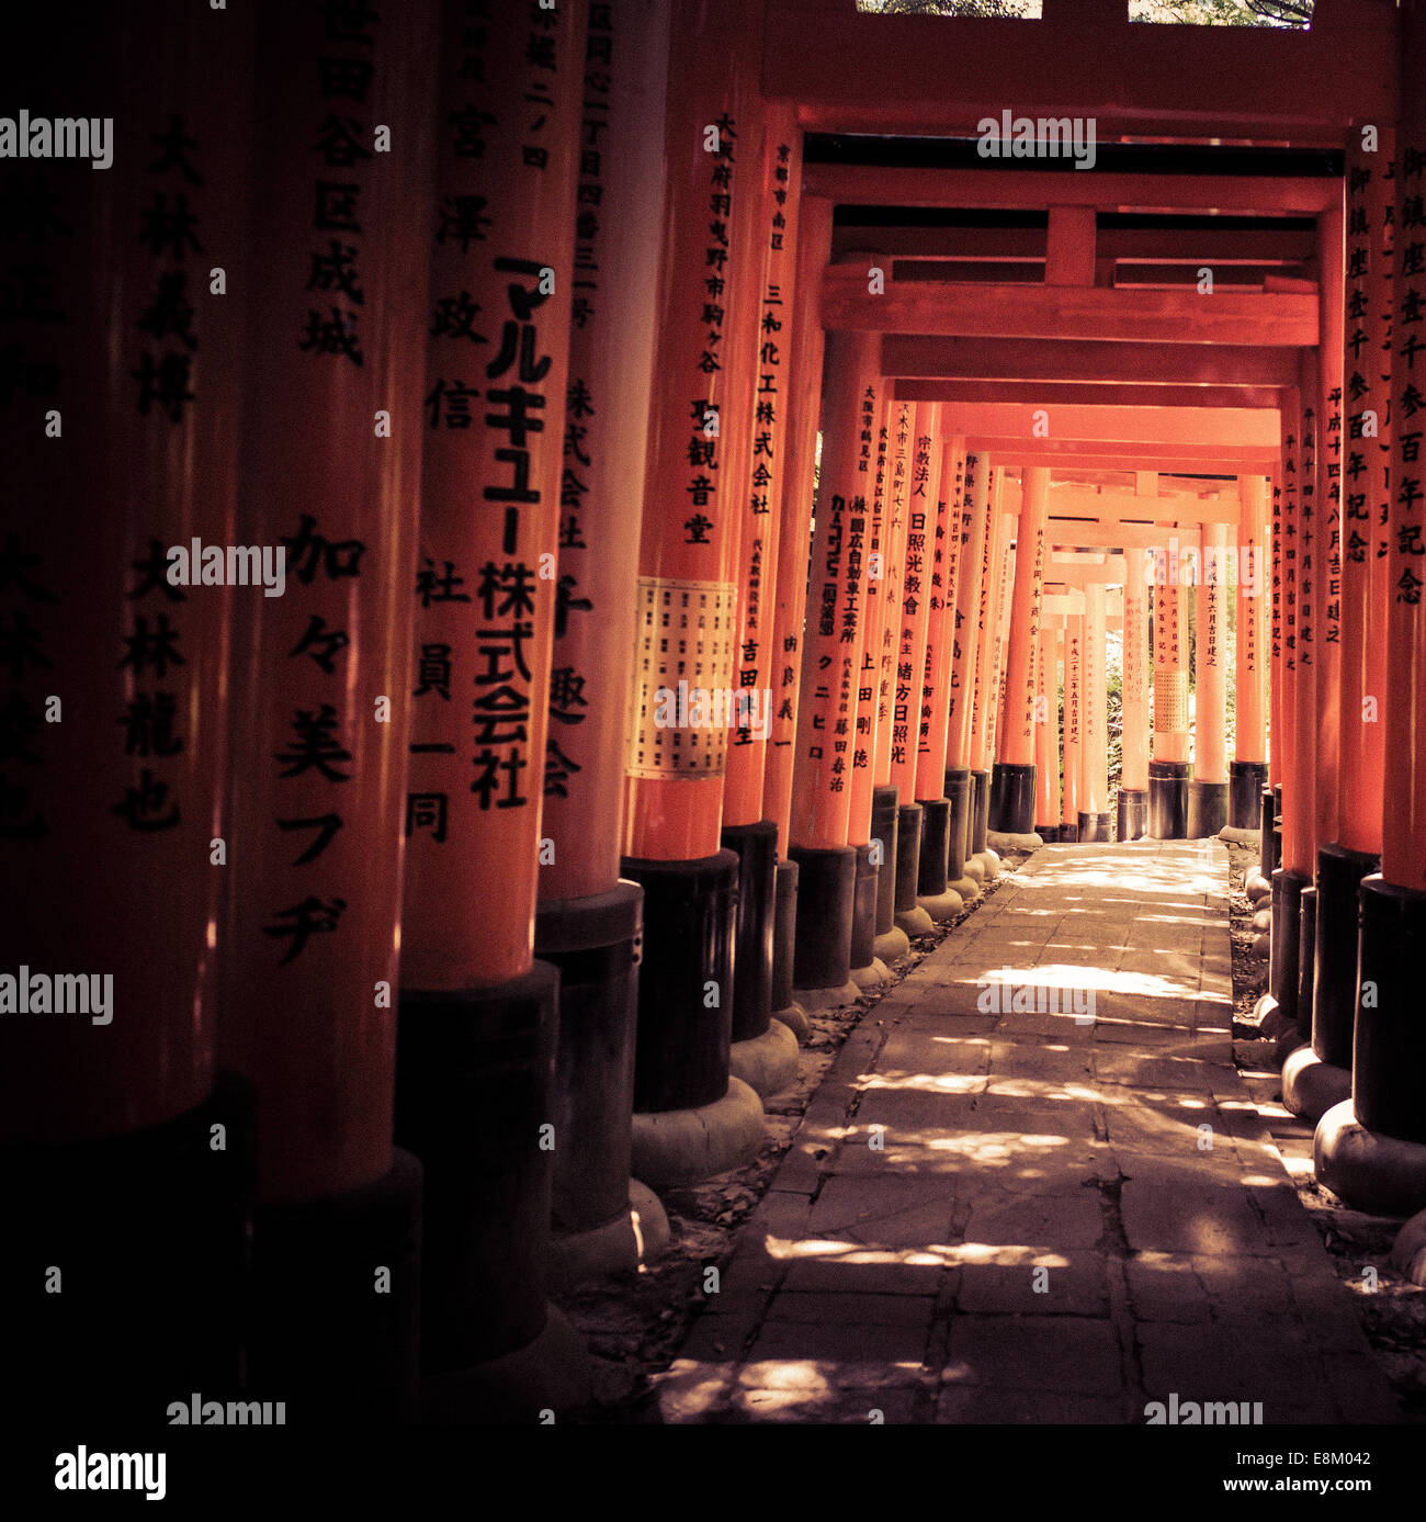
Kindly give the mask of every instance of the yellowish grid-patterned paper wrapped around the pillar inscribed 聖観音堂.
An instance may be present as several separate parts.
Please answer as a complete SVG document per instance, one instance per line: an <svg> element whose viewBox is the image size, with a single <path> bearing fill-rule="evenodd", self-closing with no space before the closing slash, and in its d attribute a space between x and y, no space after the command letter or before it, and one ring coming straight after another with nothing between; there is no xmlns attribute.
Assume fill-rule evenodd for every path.
<svg viewBox="0 0 1426 1522"><path fill-rule="evenodd" d="M750 724L761 718L766 738L772 694L732 686L737 609L731 581L639 577L630 776L721 776L727 731L744 728L740 717Z"/></svg>

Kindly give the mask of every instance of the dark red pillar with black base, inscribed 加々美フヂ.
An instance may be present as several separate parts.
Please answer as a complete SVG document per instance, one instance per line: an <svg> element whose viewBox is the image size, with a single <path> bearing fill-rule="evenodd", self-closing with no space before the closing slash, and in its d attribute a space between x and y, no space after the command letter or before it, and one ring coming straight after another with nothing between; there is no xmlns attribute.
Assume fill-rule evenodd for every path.
<svg viewBox="0 0 1426 1522"><path fill-rule="evenodd" d="M409 1411L420 1170L391 1138L435 12L349 24L263 9L257 24L237 536L285 546L286 591L239 606L240 785L219 936L222 1059L257 1090L250 1374L314 1409L385 1397ZM489 230L461 221L450 236ZM489 362L495 312L449 295L452 324L479 318L470 332L495 339ZM499 411L519 429L537 409ZM463 569L473 595L478 568Z"/></svg>

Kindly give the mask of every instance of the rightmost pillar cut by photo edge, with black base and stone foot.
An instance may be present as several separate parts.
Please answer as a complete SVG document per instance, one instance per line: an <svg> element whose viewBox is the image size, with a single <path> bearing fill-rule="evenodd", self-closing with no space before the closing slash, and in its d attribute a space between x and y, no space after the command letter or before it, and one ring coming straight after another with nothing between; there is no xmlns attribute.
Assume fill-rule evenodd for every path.
<svg viewBox="0 0 1426 1522"><path fill-rule="evenodd" d="M1313 1151L1318 1177L1350 1204L1405 1215L1426 1205L1426 1026L1420 1018L1426 959L1426 481L1412 423L1421 409L1423 379L1412 314L1426 309L1426 239L1412 210L1426 193L1426 97L1418 87L1426 67L1426 6L1405 5L1402 30L1382 869L1361 886L1351 1099L1323 1116Z"/></svg>

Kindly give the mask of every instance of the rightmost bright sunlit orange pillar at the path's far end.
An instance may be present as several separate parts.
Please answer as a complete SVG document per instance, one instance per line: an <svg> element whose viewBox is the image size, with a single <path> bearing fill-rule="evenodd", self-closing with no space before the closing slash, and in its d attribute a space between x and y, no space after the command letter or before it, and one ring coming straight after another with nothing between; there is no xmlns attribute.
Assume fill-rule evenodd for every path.
<svg viewBox="0 0 1426 1522"><path fill-rule="evenodd" d="M1240 475L1237 530L1237 650L1234 671L1233 761L1228 764L1228 823L1257 829L1268 784L1266 607L1271 568L1266 557L1268 479Z"/></svg>

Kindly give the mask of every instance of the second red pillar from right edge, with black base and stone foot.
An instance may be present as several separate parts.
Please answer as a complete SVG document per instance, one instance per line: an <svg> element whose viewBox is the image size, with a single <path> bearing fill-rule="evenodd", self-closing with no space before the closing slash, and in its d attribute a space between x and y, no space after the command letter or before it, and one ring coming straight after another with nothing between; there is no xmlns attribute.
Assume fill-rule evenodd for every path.
<svg viewBox="0 0 1426 1522"><path fill-rule="evenodd" d="M1347 154L1338 836L1316 854L1312 1044L1283 1067L1283 1103L1306 1119L1351 1093L1358 893L1382 849L1394 207L1391 134L1367 140L1351 132Z"/></svg>

